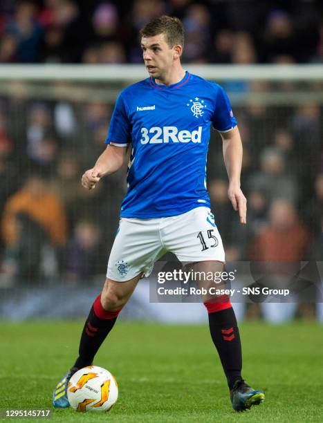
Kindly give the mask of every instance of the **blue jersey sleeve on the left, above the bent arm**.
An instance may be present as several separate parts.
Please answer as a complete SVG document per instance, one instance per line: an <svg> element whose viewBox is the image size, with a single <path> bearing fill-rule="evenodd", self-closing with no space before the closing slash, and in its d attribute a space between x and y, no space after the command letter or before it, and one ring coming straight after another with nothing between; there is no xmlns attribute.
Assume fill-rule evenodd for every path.
<svg viewBox="0 0 323 423"><path fill-rule="evenodd" d="M122 93L118 95L116 106L114 107L109 132L105 144L127 147L130 142L131 124L127 115L126 105Z"/></svg>

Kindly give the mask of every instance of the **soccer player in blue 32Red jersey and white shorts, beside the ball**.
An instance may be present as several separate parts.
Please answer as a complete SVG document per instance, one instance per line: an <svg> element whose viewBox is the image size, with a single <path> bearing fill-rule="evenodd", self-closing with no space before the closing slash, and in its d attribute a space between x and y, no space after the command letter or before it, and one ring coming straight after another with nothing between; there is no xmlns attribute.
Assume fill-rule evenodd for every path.
<svg viewBox="0 0 323 423"><path fill-rule="evenodd" d="M246 198L240 189L242 144L237 121L221 86L192 75L181 66L183 24L158 17L141 30L149 78L124 89L113 111L107 149L82 185L93 189L122 167L131 148L128 191L113 243L107 279L86 319L79 357L57 384L53 405L67 407L67 384L76 370L89 366L122 307L154 262L173 252L184 263L221 272L225 255L210 212L205 167L210 126L221 133L228 171L228 196L246 224ZM241 377L241 343L230 299L204 301L214 346L230 389L232 407L243 411L264 401Z"/></svg>

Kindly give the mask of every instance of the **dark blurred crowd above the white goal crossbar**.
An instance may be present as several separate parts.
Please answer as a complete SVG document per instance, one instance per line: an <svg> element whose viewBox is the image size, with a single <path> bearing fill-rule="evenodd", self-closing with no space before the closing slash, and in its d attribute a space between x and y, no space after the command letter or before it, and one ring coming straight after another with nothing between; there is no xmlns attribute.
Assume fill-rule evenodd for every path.
<svg viewBox="0 0 323 423"><path fill-rule="evenodd" d="M184 62L322 63L320 0L1 0L0 63L138 63L138 30L183 20Z"/></svg>

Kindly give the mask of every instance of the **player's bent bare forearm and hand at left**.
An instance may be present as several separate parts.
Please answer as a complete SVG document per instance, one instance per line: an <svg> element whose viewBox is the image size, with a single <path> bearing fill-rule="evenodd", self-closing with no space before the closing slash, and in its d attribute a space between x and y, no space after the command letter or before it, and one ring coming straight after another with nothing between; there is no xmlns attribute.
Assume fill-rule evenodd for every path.
<svg viewBox="0 0 323 423"><path fill-rule="evenodd" d="M126 147L117 147L109 144L98 158L92 169L88 169L82 176L82 185L84 188L93 189L102 176L110 175L116 172L126 157Z"/></svg>

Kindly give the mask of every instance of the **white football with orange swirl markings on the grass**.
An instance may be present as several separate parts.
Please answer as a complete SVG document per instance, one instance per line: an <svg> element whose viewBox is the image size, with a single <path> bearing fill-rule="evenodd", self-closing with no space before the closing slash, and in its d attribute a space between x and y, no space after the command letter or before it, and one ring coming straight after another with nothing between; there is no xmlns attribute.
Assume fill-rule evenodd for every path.
<svg viewBox="0 0 323 423"><path fill-rule="evenodd" d="M109 411L118 400L118 384L105 368L84 367L69 380L67 397L76 411Z"/></svg>

